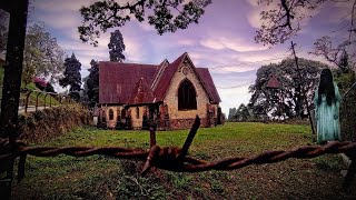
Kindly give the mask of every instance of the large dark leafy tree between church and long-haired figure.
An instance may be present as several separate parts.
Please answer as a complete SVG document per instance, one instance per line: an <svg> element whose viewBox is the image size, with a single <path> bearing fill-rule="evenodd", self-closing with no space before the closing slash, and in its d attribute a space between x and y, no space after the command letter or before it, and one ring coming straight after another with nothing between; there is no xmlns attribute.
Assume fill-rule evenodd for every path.
<svg viewBox="0 0 356 200"><path fill-rule="evenodd" d="M250 103L254 107L254 113L261 116L269 113L288 118L301 116L306 109L303 101L303 92L306 93L308 101L312 102L320 69L327 67L327 64L318 61L299 59L301 81L298 79L293 59L260 67L257 70L255 84L249 88L253 93ZM280 89L266 87L273 76L278 78L281 84Z"/></svg>

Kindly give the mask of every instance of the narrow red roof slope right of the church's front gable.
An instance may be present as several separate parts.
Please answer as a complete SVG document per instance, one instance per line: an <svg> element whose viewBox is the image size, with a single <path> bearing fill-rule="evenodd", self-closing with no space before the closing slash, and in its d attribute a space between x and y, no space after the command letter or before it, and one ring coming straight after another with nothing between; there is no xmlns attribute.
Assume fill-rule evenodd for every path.
<svg viewBox="0 0 356 200"><path fill-rule="evenodd" d="M214 103L221 102L220 96L218 91L216 90L216 87L214 84L212 78L210 76L210 72L207 68L196 68L197 72L199 73L199 77L201 81L204 82L205 88L207 89L211 101Z"/></svg>

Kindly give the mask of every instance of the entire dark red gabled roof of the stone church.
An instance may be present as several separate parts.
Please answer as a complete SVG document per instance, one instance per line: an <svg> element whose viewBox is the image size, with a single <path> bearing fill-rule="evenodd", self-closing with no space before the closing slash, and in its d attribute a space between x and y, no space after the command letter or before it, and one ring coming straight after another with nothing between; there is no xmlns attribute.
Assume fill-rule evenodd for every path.
<svg viewBox="0 0 356 200"><path fill-rule="evenodd" d="M206 68L196 68L188 53L172 63L167 60L159 66L122 62L99 62L99 103L142 104L162 101L181 62L188 59L198 80L214 103L220 97Z"/></svg>

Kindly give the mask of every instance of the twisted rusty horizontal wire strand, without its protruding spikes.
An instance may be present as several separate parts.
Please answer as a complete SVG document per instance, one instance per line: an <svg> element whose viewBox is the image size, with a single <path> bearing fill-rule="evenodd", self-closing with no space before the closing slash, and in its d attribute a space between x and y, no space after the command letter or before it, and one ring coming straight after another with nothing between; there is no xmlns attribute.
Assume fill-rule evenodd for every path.
<svg viewBox="0 0 356 200"><path fill-rule="evenodd" d="M150 167L157 167L170 171L197 172L208 170L234 170L250 164L274 163L289 158L310 159L326 153L352 153L356 151L356 142L330 141L325 146L307 146L288 151L265 151L260 154L244 158L226 158L218 161L204 161L192 157L182 157L180 148L154 146L149 151L142 149L129 149L119 147L20 147L16 156L30 154L36 157L56 157L67 154L72 157L88 157L93 154L109 156L120 159L136 159L150 162ZM0 161L11 154L0 156Z"/></svg>

